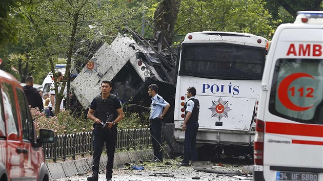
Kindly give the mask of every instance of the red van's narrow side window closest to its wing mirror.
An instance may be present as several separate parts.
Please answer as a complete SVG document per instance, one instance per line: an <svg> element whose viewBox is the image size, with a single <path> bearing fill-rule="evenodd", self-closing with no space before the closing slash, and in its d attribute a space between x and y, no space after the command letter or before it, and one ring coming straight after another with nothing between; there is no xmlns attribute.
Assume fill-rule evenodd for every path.
<svg viewBox="0 0 323 181"><path fill-rule="evenodd" d="M29 125L28 125L28 101L26 100L24 93L21 89L16 87L17 97L19 100L19 111L20 111L20 117L22 121L22 128L23 128L23 139L24 140L30 140L30 134L29 134Z"/></svg>

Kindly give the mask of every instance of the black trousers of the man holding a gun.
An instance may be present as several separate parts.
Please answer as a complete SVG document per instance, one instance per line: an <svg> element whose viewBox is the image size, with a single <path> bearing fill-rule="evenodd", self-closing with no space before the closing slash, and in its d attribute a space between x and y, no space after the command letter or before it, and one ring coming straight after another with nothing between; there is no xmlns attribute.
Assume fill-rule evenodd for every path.
<svg viewBox="0 0 323 181"><path fill-rule="evenodd" d="M112 178L112 169L113 169L113 159L115 152L115 145L117 140L117 129L116 126L112 126L109 129L102 129L99 126L95 126L94 136L93 136L93 165L92 171L93 173L98 173L100 157L103 151L104 142L106 142L106 149L108 155L108 163L107 163L107 172L106 177Z"/></svg>

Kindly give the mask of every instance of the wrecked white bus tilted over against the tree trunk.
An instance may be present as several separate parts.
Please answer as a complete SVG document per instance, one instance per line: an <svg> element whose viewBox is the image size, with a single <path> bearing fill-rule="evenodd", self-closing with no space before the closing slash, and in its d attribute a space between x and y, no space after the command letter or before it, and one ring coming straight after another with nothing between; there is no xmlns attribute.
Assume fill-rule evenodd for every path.
<svg viewBox="0 0 323 181"><path fill-rule="evenodd" d="M175 71L175 63L145 39L138 44L130 36L118 34L110 45L104 43L99 48L71 83L71 88L80 104L87 108L100 94L100 83L110 80L111 93L118 96L123 106L141 112L147 111L151 104L147 92L152 83L159 86L159 94L174 106ZM165 121L173 122L173 111L169 111Z"/></svg>

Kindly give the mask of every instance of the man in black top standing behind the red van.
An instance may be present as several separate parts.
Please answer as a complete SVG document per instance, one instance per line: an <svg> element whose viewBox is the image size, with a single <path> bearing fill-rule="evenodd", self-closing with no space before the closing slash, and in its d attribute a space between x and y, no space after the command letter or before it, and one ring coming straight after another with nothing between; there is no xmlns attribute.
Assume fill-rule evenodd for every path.
<svg viewBox="0 0 323 181"><path fill-rule="evenodd" d="M23 87L25 95L28 100L28 104L31 105L32 108L38 107L40 111L43 111L44 104L43 98L39 95L38 90L34 87L34 78L32 76L26 77L26 85Z"/></svg>

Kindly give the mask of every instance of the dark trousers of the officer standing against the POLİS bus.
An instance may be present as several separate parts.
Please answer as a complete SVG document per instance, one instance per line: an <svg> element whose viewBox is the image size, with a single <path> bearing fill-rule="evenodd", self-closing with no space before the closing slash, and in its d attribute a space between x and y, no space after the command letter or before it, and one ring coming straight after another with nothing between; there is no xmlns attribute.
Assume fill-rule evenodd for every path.
<svg viewBox="0 0 323 181"><path fill-rule="evenodd" d="M189 121L186 124L185 139L184 139L184 159L182 163L188 164L191 161L197 161L197 145L196 135L198 129L197 121Z"/></svg>

